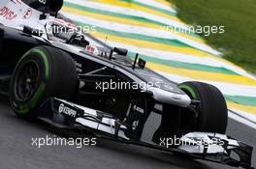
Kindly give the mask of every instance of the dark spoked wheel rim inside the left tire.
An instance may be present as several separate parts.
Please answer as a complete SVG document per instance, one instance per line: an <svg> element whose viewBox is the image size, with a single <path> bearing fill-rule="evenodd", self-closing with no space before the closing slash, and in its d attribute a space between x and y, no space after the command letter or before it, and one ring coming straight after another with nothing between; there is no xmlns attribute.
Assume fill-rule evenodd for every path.
<svg viewBox="0 0 256 169"><path fill-rule="evenodd" d="M39 86L40 70L36 62L29 61L24 64L16 76L16 99L24 101L33 97Z"/></svg>

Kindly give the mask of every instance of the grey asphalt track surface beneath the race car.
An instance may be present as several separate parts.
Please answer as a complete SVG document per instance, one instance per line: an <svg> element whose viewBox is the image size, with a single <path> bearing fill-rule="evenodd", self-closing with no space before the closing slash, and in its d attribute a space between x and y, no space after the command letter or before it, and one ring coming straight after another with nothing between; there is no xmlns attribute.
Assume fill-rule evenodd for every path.
<svg viewBox="0 0 256 169"><path fill-rule="evenodd" d="M159 117L150 117L144 139L152 134ZM228 132L256 148L256 131L233 120ZM32 137L54 137L46 127L20 120L14 115L6 99L0 99L0 168L1 169L229 169L221 164L191 160L177 155L146 148L123 145L108 140L97 140L97 146L43 147L32 146ZM256 154L253 155L256 166Z"/></svg>

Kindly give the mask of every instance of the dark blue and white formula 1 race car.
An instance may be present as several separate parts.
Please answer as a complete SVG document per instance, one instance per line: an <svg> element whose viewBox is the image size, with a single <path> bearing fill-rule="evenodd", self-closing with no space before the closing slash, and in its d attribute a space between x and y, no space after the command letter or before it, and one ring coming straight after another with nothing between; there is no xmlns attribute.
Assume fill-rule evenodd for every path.
<svg viewBox="0 0 256 169"><path fill-rule="evenodd" d="M9 96L18 117L252 168L252 147L225 135L228 110L217 88L176 84L146 69L140 54L131 59L126 49L80 32L58 14L62 5L62 0L1 0L0 93ZM162 120L145 142L151 113ZM170 144L177 138L178 144Z"/></svg>

